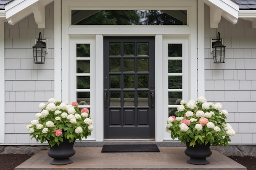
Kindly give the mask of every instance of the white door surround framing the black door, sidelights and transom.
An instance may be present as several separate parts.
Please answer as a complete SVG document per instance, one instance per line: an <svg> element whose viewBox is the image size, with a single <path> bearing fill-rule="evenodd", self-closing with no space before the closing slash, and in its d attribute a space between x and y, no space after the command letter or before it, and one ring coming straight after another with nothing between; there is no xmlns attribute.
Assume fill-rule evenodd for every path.
<svg viewBox="0 0 256 170"><path fill-rule="evenodd" d="M101 1L103 2L103 1ZM170 6L173 5L173 6ZM156 8L157 7L157 8ZM124 9L186 9L188 11L188 23L185 26L72 26L71 23L71 10L72 9L111 9L111 10L124 10ZM166 35L187 35L189 41L189 98L196 99L197 97L197 18L196 18L196 0L155 0L147 2L145 7L144 0L131 1L113 1L106 0L99 3L97 0L63 0L62 1L62 100L72 102L70 95L72 89L69 84L70 75L70 40L76 35L92 35L95 37L95 79L92 80L92 86L95 87L95 100L91 102L92 119L94 121L94 131L92 138L88 139L103 141L103 36L155 36L155 109L156 109L156 141L164 140L164 117L163 107L163 93L165 91L162 86L162 45L163 36ZM158 113L158 114L157 114ZM95 117L93 116L95 114Z"/></svg>

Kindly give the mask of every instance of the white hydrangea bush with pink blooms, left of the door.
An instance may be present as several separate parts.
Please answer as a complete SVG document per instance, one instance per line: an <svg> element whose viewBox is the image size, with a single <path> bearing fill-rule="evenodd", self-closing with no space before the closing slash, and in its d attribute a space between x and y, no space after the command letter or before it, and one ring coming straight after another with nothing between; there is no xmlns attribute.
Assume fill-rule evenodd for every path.
<svg viewBox="0 0 256 170"><path fill-rule="evenodd" d="M48 141L50 146L54 146L59 145L63 138L71 143L91 135L93 126L89 110L83 108L80 111L77 102L70 105L51 98L47 105L41 103L39 109L42 111L36 114L38 120L32 120L27 125L27 130L37 142Z"/></svg>

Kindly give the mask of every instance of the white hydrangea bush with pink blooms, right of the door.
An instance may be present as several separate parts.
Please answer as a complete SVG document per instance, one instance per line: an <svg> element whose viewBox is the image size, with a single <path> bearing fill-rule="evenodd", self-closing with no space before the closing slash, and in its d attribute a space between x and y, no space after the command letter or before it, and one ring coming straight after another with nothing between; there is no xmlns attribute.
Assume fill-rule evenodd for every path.
<svg viewBox="0 0 256 170"><path fill-rule="evenodd" d="M212 104L204 97L198 97L197 102L185 100L177 107L176 116L167 119L166 131L171 138L178 138L181 143L190 142L190 146L210 143L214 146L228 146L229 137L236 132L227 124L227 110L222 110L220 103Z"/></svg>

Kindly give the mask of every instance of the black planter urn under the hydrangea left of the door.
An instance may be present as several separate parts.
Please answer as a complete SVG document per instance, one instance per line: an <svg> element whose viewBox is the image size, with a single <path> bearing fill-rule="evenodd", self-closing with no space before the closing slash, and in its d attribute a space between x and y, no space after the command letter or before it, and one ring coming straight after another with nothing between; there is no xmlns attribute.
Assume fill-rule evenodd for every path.
<svg viewBox="0 0 256 170"><path fill-rule="evenodd" d="M63 142L59 145L55 144L54 146L50 146L48 155L53 158L53 161L50 163L52 165L66 165L72 163L73 161L70 160L70 157L76 153L73 148L74 143L75 141L70 143L68 139L64 138Z"/></svg>

